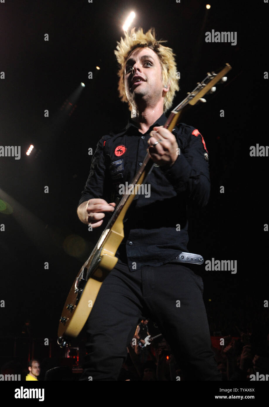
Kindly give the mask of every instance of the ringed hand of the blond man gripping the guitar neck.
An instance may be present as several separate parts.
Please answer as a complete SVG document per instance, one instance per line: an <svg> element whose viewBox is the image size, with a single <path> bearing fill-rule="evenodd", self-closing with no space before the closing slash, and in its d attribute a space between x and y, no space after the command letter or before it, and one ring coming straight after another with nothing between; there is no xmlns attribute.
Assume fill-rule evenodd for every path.
<svg viewBox="0 0 269 407"><path fill-rule="evenodd" d="M179 154L175 136L168 129L164 129L164 126L153 127L149 134L151 137L148 140L148 151L152 161L159 166L171 167ZM158 141L158 144L152 147L156 141Z"/></svg>

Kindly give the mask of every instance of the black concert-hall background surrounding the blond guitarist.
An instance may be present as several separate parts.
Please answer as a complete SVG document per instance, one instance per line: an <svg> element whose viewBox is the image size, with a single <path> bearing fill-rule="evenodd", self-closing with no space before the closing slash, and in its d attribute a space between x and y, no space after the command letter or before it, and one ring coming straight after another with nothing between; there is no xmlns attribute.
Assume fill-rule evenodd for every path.
<svg viewBox="0 0 269 407"><path fill-rule="evenodd" d="M66 296L101 232L89 233L76 209L90 170L88 148L95 150L99 138L129 118L127 104L118 98L114 49L132 10L132 26L144 31L154 26L157 39L166 39L164 45L177 55L181 90L174 106L206 72L218 72L226 62L232 66L225 85L182 120L203 134L212 182L208 206L189 211L188 249L205 260L237 260L237 274L201 273L212 333L236 335L238 324L243 329L253 318L265 322L268 158L250 157L249 147L268 144L269 5L210 4L207 11L206 2L198 0L0 3L0 71L5 72L0 144L21 146L20 160L0 157L0 199L13 208L11 214L0 212L5 227L0 232L2 358L12 356L8 338L22 337L27 319L31 337L42 338L41 344L50 338L57 346ZM236 46L206 43L205 33L212 29L236 31ZM74 101L71 95L81 82L86 86ZM28 157L30 144L35 149ZM42 359L38 352L35 357Z"/></svg>

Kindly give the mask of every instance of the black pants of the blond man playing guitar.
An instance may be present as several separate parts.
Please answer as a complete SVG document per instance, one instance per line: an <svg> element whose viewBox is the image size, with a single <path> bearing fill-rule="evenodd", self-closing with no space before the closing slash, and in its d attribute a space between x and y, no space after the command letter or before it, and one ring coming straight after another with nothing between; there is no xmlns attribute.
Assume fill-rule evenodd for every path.
<svg viewBox="0 0 269 407"><path fill-rule="evenodd" d="M153 319L186 380L221 380L211 350L203 281L185 266L129 271L117 263L105 279L87 321L81 380L117 380L138 319Z"/></svg>

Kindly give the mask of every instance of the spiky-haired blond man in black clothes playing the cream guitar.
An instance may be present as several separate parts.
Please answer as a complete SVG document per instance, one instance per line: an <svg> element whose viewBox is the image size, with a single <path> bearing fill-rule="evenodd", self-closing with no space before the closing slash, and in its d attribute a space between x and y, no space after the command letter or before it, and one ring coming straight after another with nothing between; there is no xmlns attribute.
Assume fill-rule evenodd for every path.
<svg viewBox="0 0 269 407"><path fill-rule="evenodd" d="M202 279L176 259L188 252L187 199L199 206L209 199L208 155L194 127L181 123L173 132L162 127L179 86L175 54L161 42L154 29L143 33L134 28L118 42L118 90L131 119L121 131L99 140L79 201L79 219L92 228L101 226L105 214L114 211L116 198L122 197L119 185L131 182L149 148L155 163L146 181L151 194L133 201L116 253L118 263L103 282L87 321L83 380L117 380L143 315L159 326L186 380L221 380L211 350Z"/></svg>

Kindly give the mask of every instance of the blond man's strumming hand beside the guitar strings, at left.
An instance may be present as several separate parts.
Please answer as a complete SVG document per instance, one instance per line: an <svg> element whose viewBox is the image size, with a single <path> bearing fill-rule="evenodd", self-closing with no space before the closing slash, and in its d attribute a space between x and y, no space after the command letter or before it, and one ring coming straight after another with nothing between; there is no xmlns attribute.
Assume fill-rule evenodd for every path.
<svg viewBox="0 0 269 407"><path fill-rule="evenodd" d="M77 214L81 222L92 225L92 228L98 228L103 223L105 214L103 212L113 212L116 204L108 204L105 199L93 198L83 202L77 208Z"/></svg>

